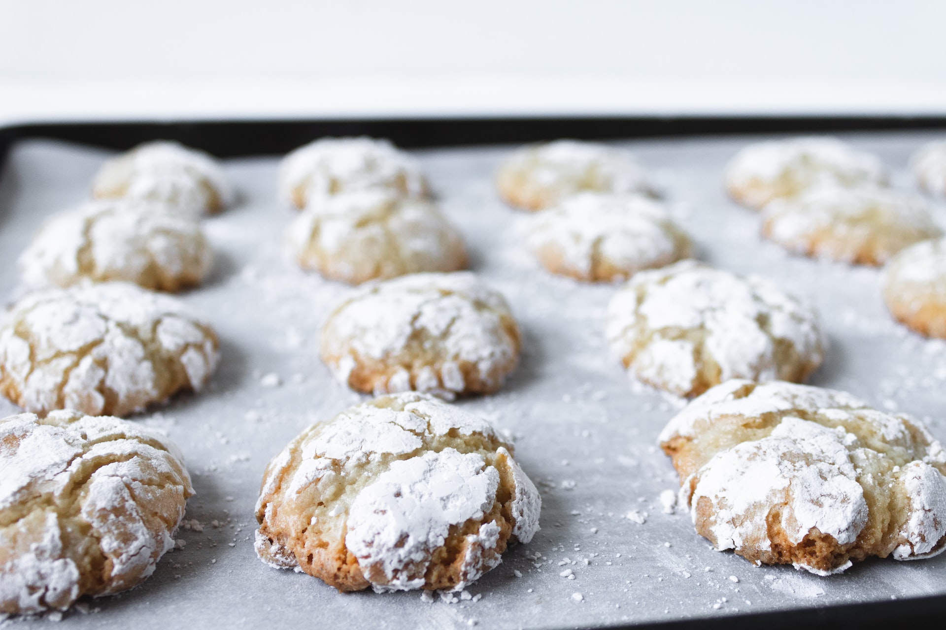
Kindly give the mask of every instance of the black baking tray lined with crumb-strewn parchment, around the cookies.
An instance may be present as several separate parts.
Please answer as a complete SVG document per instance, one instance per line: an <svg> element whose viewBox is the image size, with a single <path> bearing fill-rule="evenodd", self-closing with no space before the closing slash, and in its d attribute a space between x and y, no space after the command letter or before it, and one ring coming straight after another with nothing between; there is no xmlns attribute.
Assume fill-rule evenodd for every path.
<svg viewBox="0 0 946 630"><path fill-rule="evenodd" d="M652 136L617 144L635 151L654 173L700 257L775 278L819 307L831 346L813 383L921 417L946 439L940 416L946 344L923 340L890 319L876 270L797 258L760 241L758 215L728 201L721 185L727 159L756 139L732 134L868 128L844 135L881 155L895 183L910 186L909 154L941 135L910 128L942 123L692 119L0 129L0 149L9 147L0 151L7 156L0 175L4 296L13 294L14 261L44 217L87 196L97 167L112 154L101 146L122 149L170 137L241 156L224 162L239 203L206 222L217 251L215 271L205 286L183 297L219 332L219 372L200 396L181 396L136 417L166 431L192 472L198 496L188 503L177 536L183 548L168 553L142 587L52 618L68 628L267 627L313 620L354 628L732 628L922 621L937 614L946 606L946 555L912 563L869 560L829 578L790 567L757 569L731 553L713 552L693 533L686 513L665 513L659 494L677 482L655 440L682 402L627 379L604 343L604 309L614 287L579 284L539 268L521 245L528 216L503 206L492 175L511 148L499 143ZM730 135L693 135L713 131ZM350 289L287 260L283 232L294 213L274 200L275 154L318 135L352 133L412 147L452 145L417 150L416 156L445 213L464 232L473 269L509 298L524 332L522 362L507 386L496 396L460 404L515 437L517 460L543 495L542 531L529 545L509 550L466 595L432 603L417 592L342 595L305 575L272 570L253 551L253 506L266 463L307 424L362 400L332 381L316 349L324 315ZM263 377L270 374L278 375L277 386L267 386L273 379ZM15 412L0 401L0 414ZM575 578L561 577L565 569ZM39 627L47 621L3 622Z"/></svg>

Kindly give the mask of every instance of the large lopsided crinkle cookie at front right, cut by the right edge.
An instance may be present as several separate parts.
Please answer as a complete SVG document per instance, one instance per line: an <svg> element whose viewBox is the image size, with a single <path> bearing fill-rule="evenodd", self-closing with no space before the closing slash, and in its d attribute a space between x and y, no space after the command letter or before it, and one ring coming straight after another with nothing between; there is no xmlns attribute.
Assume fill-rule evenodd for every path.
<svg viewBox="0 0 946 630"><path fill-rule="evenodd" d="M916 420L844 392L730 381L670 421L681 502L717 550L838 573L946 548L946 452Z"/></svg>

